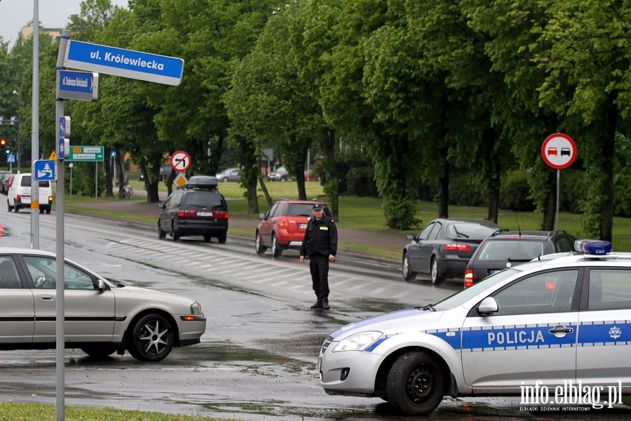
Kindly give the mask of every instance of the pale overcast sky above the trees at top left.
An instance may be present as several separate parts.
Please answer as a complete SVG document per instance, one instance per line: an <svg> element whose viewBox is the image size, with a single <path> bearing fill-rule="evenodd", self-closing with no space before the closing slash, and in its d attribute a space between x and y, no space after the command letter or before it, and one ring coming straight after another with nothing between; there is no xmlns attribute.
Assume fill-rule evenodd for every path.
<svg viewBox="0 0 631 421"><path fill-rule="evenodd" d="M127 7L128 0L110 0L114 6ZM45 28L64 28L70 15L81 13L81 0L39 0L39 21ZM0 35L11 46L22 27L33 20L34 1L0 0Z"/></svg>

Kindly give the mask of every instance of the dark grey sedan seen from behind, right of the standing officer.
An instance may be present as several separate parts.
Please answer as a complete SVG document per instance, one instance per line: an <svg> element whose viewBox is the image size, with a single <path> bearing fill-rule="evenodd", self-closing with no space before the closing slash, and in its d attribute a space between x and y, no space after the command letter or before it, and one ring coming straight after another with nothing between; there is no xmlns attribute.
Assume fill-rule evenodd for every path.
<svg viewBox="0 0 631 421"><path fill-rule="evenodd" d="M429 274L432 283L464 275L467 262L477 246L500 227L490 221L449 219L433 220L403 249L403 279L412 281L416 274Z"/></svg>

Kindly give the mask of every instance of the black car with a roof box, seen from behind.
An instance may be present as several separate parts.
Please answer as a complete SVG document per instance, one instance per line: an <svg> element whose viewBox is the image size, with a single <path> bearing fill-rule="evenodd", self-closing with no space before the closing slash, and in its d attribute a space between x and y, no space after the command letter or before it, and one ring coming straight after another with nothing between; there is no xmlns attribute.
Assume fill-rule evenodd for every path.
<svg viewBox="0 0 631 421"><path fill-rule="evenodd" d="M217 192L217 178L208 175L191 177L179 187L165 203L158 204L162 213L158 218L158 238L166 234L178 241L182 236L204 237L204 241L217 238L226 242L228 234L228 203Z"/></svg>

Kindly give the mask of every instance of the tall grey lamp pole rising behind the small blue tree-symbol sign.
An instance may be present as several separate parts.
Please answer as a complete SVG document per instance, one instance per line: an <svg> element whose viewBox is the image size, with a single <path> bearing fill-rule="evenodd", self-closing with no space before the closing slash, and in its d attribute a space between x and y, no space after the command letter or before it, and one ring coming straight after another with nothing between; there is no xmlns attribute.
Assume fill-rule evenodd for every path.
<svg viewBox="0 0 631 421"><path fill-rule="evenodd" d="M31 174L39 158L39 1L33 0L33 100ZM56 124L55 124L56 126ZM39 248L39 189L31 189L31 248Z"/></svg>

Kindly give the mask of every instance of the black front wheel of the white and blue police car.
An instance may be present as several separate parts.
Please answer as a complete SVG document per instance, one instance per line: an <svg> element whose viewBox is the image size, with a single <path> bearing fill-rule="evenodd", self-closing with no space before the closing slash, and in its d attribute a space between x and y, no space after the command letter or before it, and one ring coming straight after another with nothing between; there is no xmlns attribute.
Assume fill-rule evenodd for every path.
<svg viewBox="0 0 631 421"><path fill-rule="evenodd" d="M426 352L403 354L388 373L388 401L406 415L428 415L440 405L444 390L445 375Z"/></svg>

